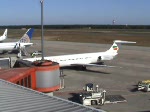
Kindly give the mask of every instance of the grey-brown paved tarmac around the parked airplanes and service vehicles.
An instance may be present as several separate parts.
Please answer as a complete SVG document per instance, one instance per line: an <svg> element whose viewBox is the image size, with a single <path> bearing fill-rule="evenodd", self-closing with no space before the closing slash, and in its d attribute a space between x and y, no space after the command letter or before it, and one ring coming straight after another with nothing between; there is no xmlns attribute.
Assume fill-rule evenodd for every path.
<svg viewBox="0 0 150 112"><path fill-rule="evenodd" d="M39 40L32 42L35 45L27 48L29 53L41 50ZM44 56L100 52L110 47L110 44L45 41ZM96 108L108 112L149 112L150 93L137 91L137 83L150 79L150 47L138 47L136 44L122 45L118 53L115 59L104 62L107 65L116 66L113 68L87 67L86 71L74 68L63 69L65 87L54 92L54 95L78 102L78 93L83 90L85 84L93 83L105 89L107 95L121 95L127 101L96 106ZM8 55L14 54L3 56Z"/></svg>

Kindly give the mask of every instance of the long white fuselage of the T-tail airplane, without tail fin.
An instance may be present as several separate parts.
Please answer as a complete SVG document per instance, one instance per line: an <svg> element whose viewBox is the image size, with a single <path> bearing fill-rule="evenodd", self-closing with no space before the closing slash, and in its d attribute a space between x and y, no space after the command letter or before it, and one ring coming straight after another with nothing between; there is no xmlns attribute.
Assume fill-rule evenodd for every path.
<svg viewBox="0 0 150 112"><path fill-rule="evenodd" d="M82 64L98 63L103 60L111 60L117 54L118 53L97 52L97 53L51 56L51 57L44 57L44 59L57 62L59 63L60 67L65 67L65 66L73 66L75 64L82 65ZM41 57L26 58L24 60L33 62L36 60L41 60Z"/></svg>

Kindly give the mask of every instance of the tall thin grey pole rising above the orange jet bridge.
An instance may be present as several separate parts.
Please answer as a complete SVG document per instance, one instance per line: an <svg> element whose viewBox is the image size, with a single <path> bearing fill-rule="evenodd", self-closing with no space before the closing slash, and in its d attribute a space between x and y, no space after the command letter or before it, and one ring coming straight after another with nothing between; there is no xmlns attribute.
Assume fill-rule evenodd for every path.
<svg viewBox="0 0 150 112"><path fill-rule="evenodd" d="M41 0L41 50L42 50L42 61L44 61L44 37L43 37L43 2L44 0Z"/></svg>

